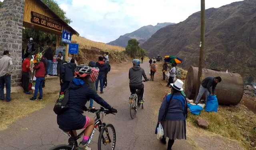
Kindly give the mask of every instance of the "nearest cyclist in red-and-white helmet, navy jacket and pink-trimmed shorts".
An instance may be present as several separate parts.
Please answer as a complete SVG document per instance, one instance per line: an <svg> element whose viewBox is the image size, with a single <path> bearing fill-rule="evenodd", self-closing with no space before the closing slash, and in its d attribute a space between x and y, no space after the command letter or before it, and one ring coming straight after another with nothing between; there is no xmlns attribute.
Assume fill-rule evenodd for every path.
<svg viewBox="0 0 256 150"><path fill-rule="evenodd" d="M94 128L94 118L84 116L84 108L90 99L94 99L102 107L110 110L112 113L117 113L117 110L111 107L106 101L104 101L93 89L89 87L88 79L92 73L88 65L79 65L75 69L76 78L74 78L69 85L69 100L68 109L62 114L57 116L57 123L64 131L73 130L75 136L76 131L82 128L86 128L84 131L84 138L80 142L80 148L84 150L91 150L87 146L88 139L92 134Z"/></svg>

